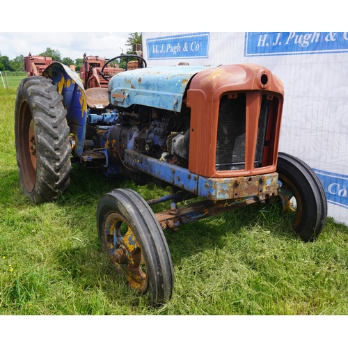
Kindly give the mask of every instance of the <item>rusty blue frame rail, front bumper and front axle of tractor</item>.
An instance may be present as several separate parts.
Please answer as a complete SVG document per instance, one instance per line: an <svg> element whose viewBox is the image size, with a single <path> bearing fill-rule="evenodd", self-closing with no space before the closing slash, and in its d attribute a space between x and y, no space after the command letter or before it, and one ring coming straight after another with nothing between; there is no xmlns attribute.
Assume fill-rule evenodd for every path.
<svg viewBox="0 0 348 348"><path fill-rule="evenodd" d="M133 150L125 150L125 165L172 185L172 194L147 201L148 205L155 205L171 200L170 209L155 214L162 230L177 230L186 223L260 203L278 195L278 173L207 178ZM195 197L206 200L177 207L177 203Z"/></svg>

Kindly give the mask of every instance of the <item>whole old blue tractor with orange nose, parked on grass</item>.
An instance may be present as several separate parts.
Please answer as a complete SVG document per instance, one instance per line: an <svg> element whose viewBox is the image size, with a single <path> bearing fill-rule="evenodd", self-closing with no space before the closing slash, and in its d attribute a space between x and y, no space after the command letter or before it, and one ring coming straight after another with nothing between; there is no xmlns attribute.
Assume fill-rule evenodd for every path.
<svg viewBox="0 0 348 348"><path fill-rule="evenodd" d="M322 232L321 182L303 161L278 153L278 77L255 64L146 68L139 59L144 68L111 79L106 62L107 89L85 90L61 63L21 82L15 139L24 194L34 203L61 195L74 161L107 177L171 187L148 201L131 189L113 189L97 205L102 248L130 287L154 304L173 292L166 228L269 203L290 214L303 241ZM168 210L155 214L151 205L162 202Z"/></svg>

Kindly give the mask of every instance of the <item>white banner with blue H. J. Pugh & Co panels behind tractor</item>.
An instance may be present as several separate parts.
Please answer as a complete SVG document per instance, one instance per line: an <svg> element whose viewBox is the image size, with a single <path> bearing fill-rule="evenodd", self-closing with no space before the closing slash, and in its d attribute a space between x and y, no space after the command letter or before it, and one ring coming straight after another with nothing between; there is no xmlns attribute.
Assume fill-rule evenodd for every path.
<svg viewBox="0 0 348 348"><path fill-rule="evenodd" d="M257 63L283 81L280 151L324 184L329 216L348 225L348 34L143 33L148 66Z"/></svg>

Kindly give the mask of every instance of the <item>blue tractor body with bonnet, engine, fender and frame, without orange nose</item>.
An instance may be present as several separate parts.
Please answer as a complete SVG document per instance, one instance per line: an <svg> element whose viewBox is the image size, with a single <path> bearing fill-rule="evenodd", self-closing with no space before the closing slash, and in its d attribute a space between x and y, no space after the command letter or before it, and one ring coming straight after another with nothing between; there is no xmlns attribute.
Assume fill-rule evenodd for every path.
<svg viewBox="0 0 348 348"><path fill-rule="evenodd" d="M172 151L181 157L179 162L188 160L189 125L173 127L174 132L169 132L169 120L177 122L175 116L184 109L191 79L212 68L216 66L179 65L121 72L109 81L107 95L106 88L85 90L79 76L58 62L49 65L44 76L52 79L63 95L74 159L91 168L102 168L106 177L126 173L143 184L150 180L150 175L161 183L209 200L239 198L239 203L244 203L246 199L275 194L276 173L263 174L262 181L261 175L251 175L253 184L243 176L236 185L236 175L205 177L190 171L187 163L168 160L175 157L167 151L168 139L174 149L175 142L181 144ZM245 78L244 74L241 76L236 81ZM215 78L212 74L211 79ZM171 115L165 116L167 112Z"/></svg>

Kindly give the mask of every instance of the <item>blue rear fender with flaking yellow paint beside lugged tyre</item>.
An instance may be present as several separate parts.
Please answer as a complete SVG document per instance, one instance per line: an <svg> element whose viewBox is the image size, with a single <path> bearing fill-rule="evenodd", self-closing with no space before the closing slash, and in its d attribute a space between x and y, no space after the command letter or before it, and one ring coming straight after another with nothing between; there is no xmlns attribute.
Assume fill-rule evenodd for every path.
<svg viewBox="0 0 348 348"><path fill-rule="evenodd" d="M51 79L58 86L58 93L63 96L70 132L74 134L74 156L81 157L87 123L84 85L76 72L59 62L50 64L42 75Z"/></svg>

